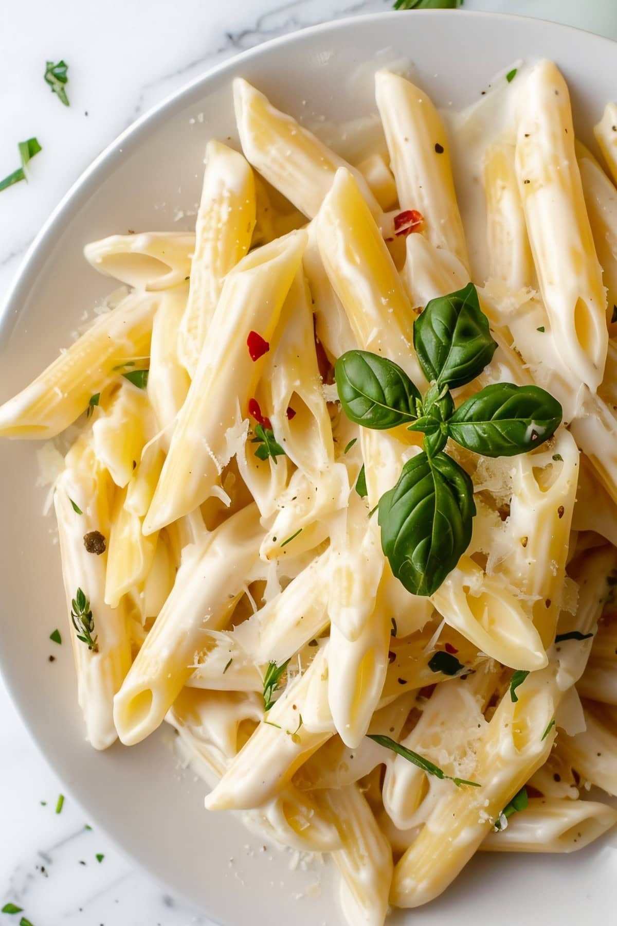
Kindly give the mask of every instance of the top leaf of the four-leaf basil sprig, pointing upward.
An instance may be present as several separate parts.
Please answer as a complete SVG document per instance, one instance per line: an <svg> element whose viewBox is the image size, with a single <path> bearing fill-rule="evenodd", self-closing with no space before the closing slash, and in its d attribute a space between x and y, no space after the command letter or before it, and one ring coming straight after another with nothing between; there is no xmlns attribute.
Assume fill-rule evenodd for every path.
<svg viewBox="0 0 617 926"><path fill-rule="evenodd" d="M473 283L431 299L413 323L413 346L428 382L453 389L482 372L497 344Z"/></svg>

